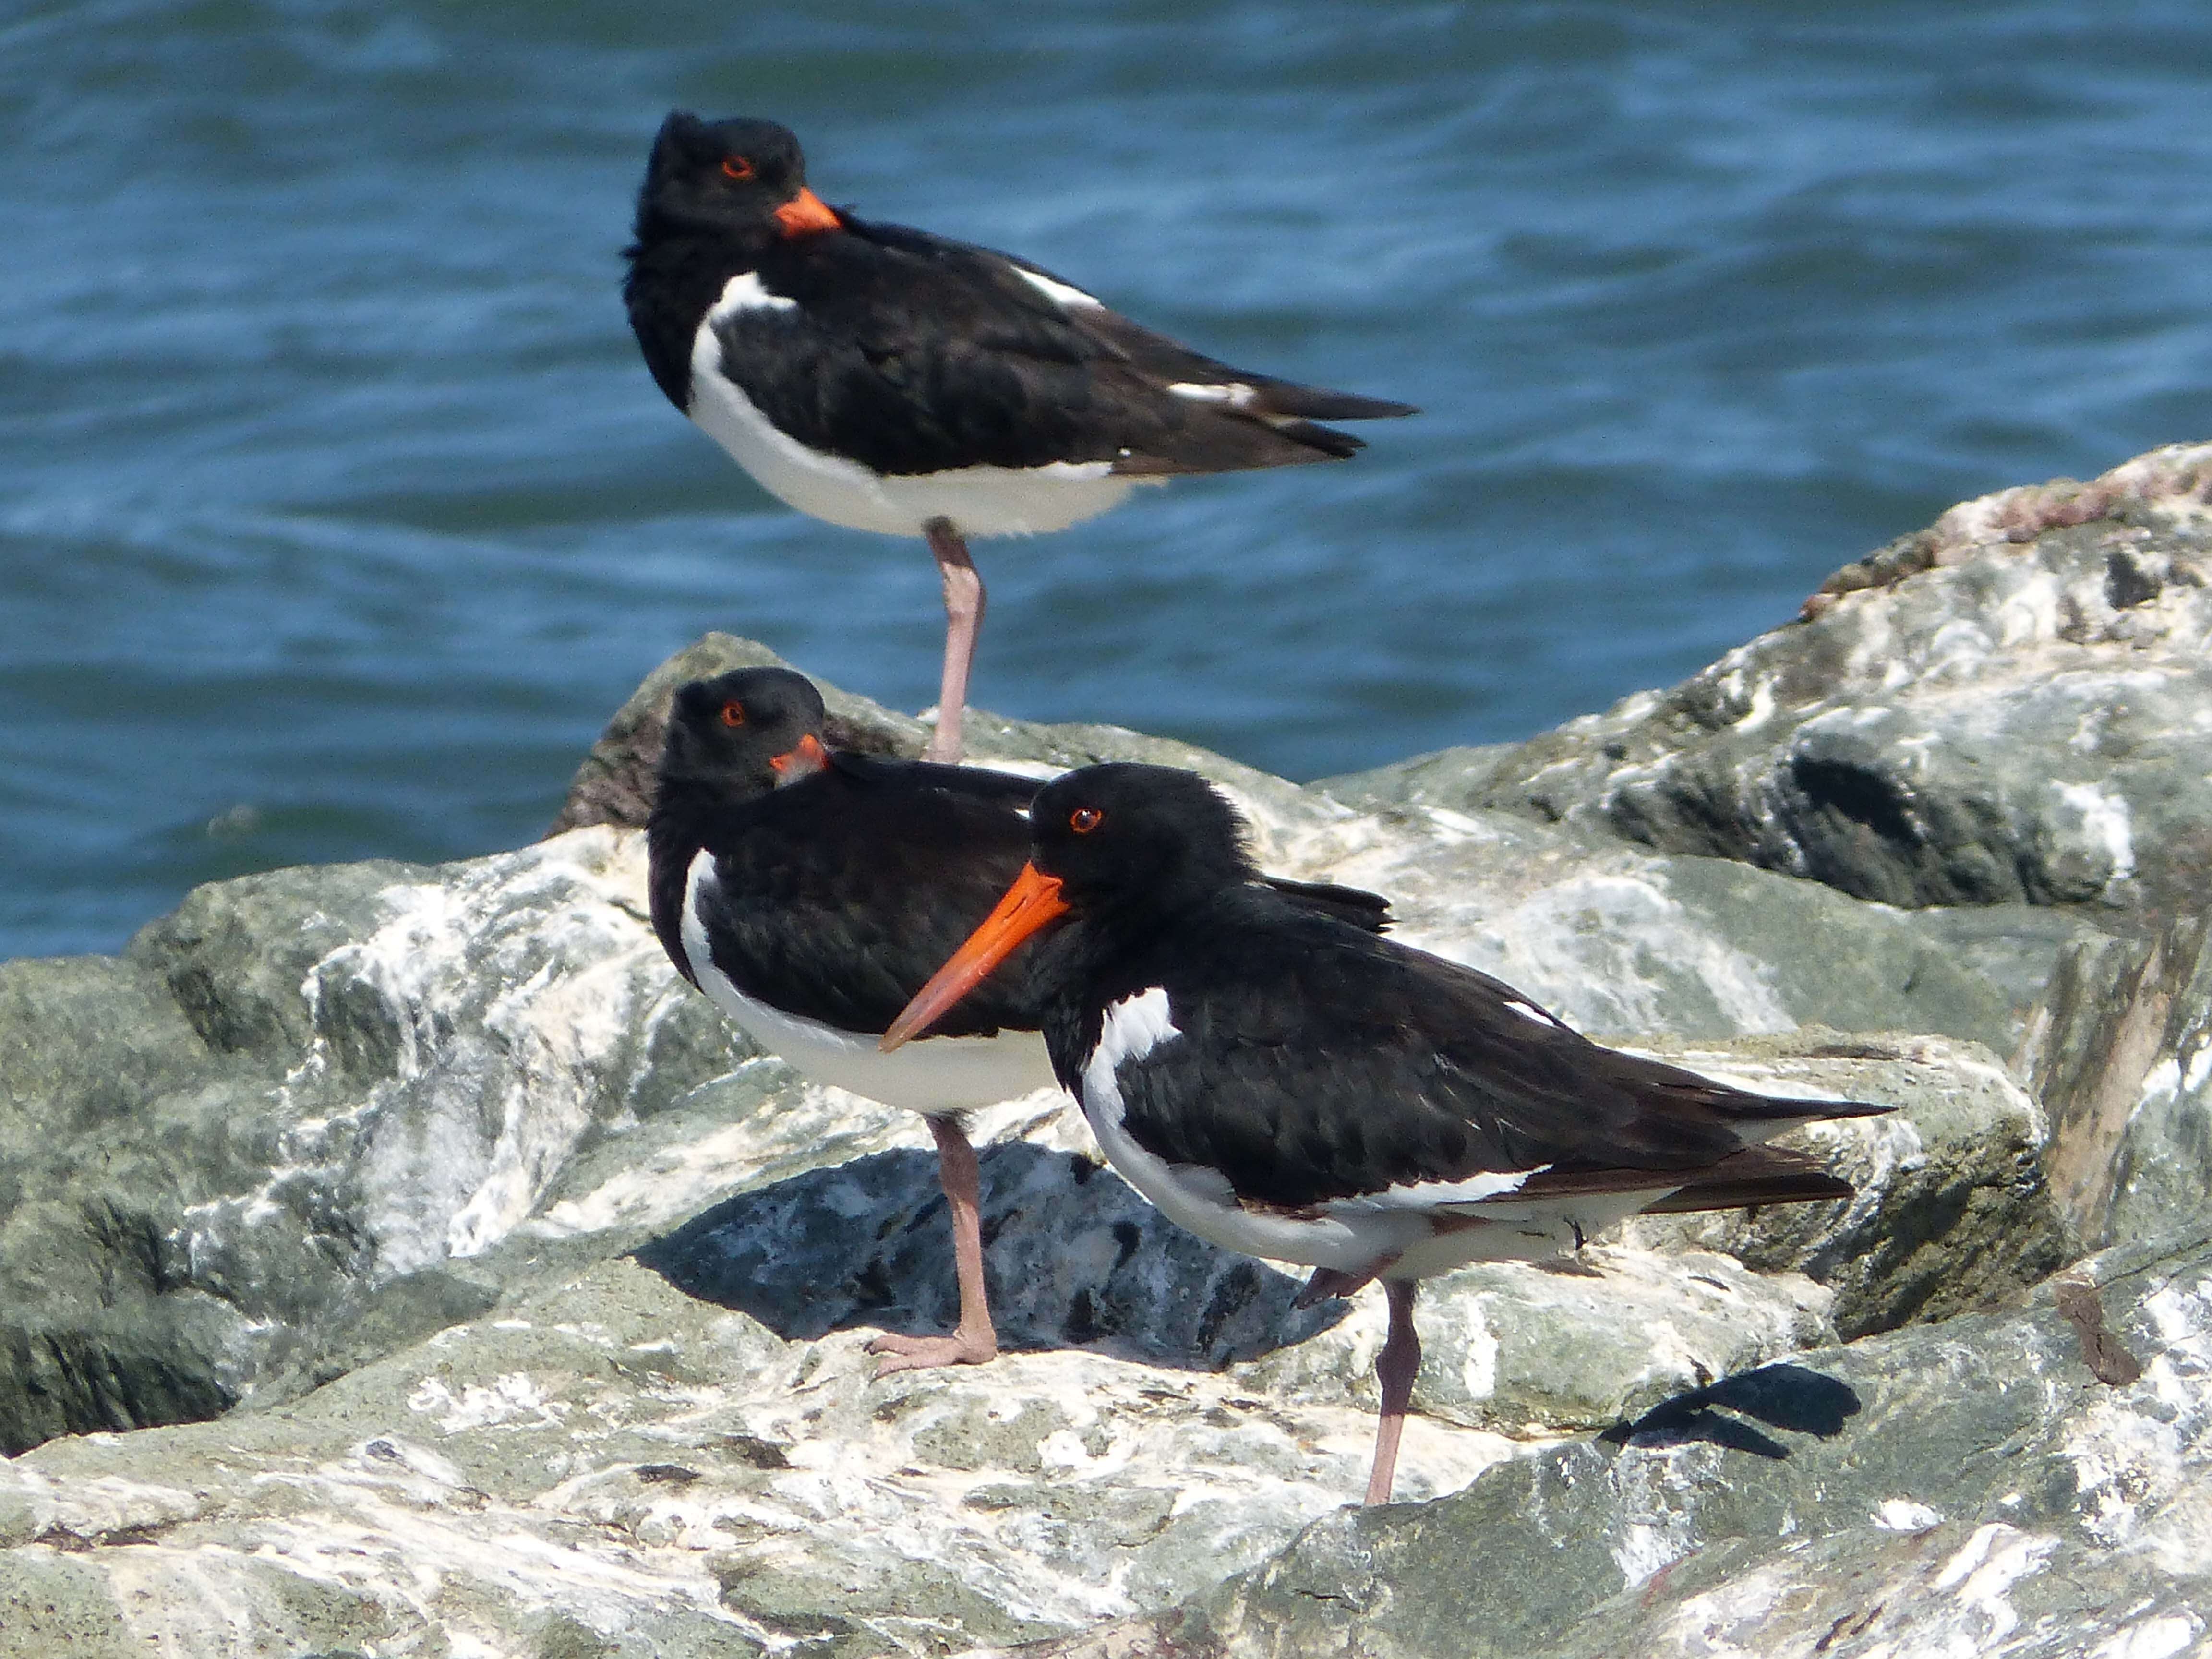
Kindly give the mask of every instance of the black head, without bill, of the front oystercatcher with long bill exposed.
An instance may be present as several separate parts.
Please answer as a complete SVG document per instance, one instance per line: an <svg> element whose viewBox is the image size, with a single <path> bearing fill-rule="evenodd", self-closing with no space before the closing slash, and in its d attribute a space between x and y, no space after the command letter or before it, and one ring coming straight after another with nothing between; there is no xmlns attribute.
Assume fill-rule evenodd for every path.
<svg viewBox="0 0 2212 1659"><path fill-rule="evenodd" d="M1115 761L1053 779L1029 807L1031 863L1068 909L1175 907L1252 880L1245 821L1197 772Z"/></svg>

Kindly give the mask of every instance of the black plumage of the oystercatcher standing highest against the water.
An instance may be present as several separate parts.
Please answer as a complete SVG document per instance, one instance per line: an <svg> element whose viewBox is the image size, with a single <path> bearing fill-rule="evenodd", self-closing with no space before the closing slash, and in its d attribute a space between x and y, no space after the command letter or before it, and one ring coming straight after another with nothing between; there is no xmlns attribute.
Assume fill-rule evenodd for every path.
<svg viewBox="0 0 2212 1659"><path fill-rule="evenodd" d="M752 161L752 179L721 175L730 153ZM1108 462L1130 476L1285 467L1363 447L1318 420L1413 414L1237 369L1104 305L1068 305L1022 272L1079 290L1013 254L849 210L834 230L787 234L772 215L801 188L799 142L772 122L677 111L661 126L624 301L655 383L684 414L699 323L745 272L792 305L723 319L721 372L779 431L885 476L1053 462ZM1250 400L1194 400L1170 385L1237 385Z"/></svg>

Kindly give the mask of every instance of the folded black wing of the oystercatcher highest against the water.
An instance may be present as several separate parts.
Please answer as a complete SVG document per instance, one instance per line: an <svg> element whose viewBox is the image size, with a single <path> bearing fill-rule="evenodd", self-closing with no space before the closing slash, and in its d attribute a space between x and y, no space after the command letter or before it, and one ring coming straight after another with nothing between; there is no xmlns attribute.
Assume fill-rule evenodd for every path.
<svg viewBox="0 0 2212 1659"><path fill-rule="evenodd" d="M1108 462L1135 476L1241 471L1349 456L1310 416L1407 405L1232 369L1106 307L1062 305L960 241L847 215L838 234L776 243L759 276L796 307L717 325L721 369L776 427L880 473ZM1243 385L1243 407L1168 385Z"/></svg>

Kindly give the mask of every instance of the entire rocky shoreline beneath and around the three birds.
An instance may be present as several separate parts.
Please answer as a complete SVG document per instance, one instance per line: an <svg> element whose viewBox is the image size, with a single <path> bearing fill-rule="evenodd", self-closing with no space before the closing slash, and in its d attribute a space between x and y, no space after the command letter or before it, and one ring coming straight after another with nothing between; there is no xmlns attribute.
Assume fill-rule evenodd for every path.
<svg viewBox="0 0 2212 1659"><path fill-rule="evenodd" d="M953 1307L927 1133L644 920L657 703L748 641L533 847L0 964L0 1657L2194 1650L2208 493L2174 447L1969 502L1683 686L1310 787L971 712L1214 776L1586 1031L1900 1106L1801 1133L1849 1206L1425 1285L1380 1511L1378 1298L1294 1314L1048 1095L978 1126L1009 1354L872 1380Z"/></svg>

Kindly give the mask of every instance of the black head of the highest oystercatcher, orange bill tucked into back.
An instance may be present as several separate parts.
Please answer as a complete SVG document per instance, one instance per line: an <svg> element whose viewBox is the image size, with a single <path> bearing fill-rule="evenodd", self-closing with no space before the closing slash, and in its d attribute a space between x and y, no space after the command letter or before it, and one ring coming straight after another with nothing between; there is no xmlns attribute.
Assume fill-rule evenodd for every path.
<svg viewBox="0 0 2212 1659"><path fill-rule="evenodd" d="M830 230L836 217L807 190L807 159L787 126L675 111L646 161L637 237L668 226L768 239Z"/></svg>

